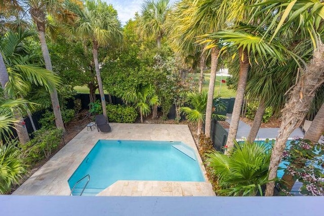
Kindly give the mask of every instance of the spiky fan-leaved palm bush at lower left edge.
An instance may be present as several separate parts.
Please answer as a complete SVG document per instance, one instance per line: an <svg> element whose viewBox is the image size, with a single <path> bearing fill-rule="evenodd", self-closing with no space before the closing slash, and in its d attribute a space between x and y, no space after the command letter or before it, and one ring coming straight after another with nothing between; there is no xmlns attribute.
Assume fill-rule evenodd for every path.
<svg viewBox="0 0 324 216"><path fill-rule="evenodd" d="M21 150L16 142L0 145L0 194L8 194L26 171Z"/></svg>

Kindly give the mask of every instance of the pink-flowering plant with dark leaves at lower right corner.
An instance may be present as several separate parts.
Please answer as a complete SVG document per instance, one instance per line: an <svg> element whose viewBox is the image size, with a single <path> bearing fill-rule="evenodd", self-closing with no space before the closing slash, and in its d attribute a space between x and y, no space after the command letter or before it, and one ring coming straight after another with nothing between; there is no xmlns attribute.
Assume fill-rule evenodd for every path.
<svg viewBox="0 0 324 216"><path fill-rule="evenodd" d="M324 144L295 139L282 154L282 160L289 162L285 172L303 183L299 190L301 194L324 195ZM290 195L286 190L282 191Z"/></svg>

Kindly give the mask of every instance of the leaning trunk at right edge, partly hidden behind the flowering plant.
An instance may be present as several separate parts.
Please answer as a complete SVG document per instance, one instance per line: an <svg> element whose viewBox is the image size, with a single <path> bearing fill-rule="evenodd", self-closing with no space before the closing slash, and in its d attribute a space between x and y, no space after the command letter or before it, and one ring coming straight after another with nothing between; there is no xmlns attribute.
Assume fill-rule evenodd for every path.
<svg viewBox="0 0 324 216"><path fill-rule="evenodd" d="M309 129L305 133L304 139L305 140L310 140L312 143L317 143L320 136L324 132L324 103L318 110L313 122L311 123ZM295 164L295 166L298 166L298 168L302 168L303 166L301 164ZM294 184L295 180L294 177L287 172L285 172L284 176L282 176L282 182L287 188L287 191L291 191Z"/></svg>

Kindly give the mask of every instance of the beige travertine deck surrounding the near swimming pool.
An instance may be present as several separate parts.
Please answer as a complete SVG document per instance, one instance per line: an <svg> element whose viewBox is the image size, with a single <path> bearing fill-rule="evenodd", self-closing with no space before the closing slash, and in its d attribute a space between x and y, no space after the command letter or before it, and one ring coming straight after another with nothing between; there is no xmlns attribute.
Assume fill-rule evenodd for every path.
<svg viewBox="0 0 324 216"><path fill-rule="evenodd" d="M70 194L68 179L97 141L102 139L182 141L194 149L206 181L117 181L98 196L215 196L187 125L126 123L110 123L110 125L112 131L106 134L98 132L97 128L91 131L85 127L13 194L68 196Z"/></svg>

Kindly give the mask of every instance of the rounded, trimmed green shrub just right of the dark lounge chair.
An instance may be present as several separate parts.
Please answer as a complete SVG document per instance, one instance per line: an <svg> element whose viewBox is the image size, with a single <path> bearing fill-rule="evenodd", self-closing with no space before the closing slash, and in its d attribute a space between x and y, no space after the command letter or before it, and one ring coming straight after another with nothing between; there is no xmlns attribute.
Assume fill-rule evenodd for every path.
<svg viewBox="0 0 324 216"><path fill-rule="evenodd" d="M138 112L134 107L107 104L107 116L112 122L133 123L137 119Z"/></svg>

